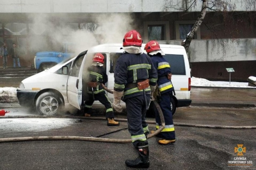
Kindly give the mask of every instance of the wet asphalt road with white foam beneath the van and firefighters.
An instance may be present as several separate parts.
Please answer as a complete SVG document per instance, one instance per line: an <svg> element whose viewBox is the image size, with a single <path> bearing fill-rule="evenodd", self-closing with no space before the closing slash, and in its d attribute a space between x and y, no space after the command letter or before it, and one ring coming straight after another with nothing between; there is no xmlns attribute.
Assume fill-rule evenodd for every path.
<svg viewBox="0 0 256 170"><path fill-rule="evenodd" d="M12 108L8 117L28 115L34 118L0 118L1 138L88 136L130 139L127 122L121 122L119 127L108 127L105 120L74 119L68 115L63 115L65 118L35 118L36 113L24 110L23 115L22 109ZM102 117L102 114L95 116ZM125 115L116 115L116 118L125 118ZM256 125L254 108L190 106L179 108L173 120L176 143L159 145L159 138L148 139L149 169L255 169L256 129L226 128ZM177 124L220 125L224 128ZM155 129L154 124L149 124L149 127L150 130ZM243 156L234 152L237 145L246 147ZM92 141L5 142L0 143L0 150L0 169L129 169L125 167L125 159L137 157L131 143ZM246 159L248 163L252 161L253 164L246 162L245 167L241 166L241 162L233 162L228 166L230 161L237 161L237 157Z"/></svg>

